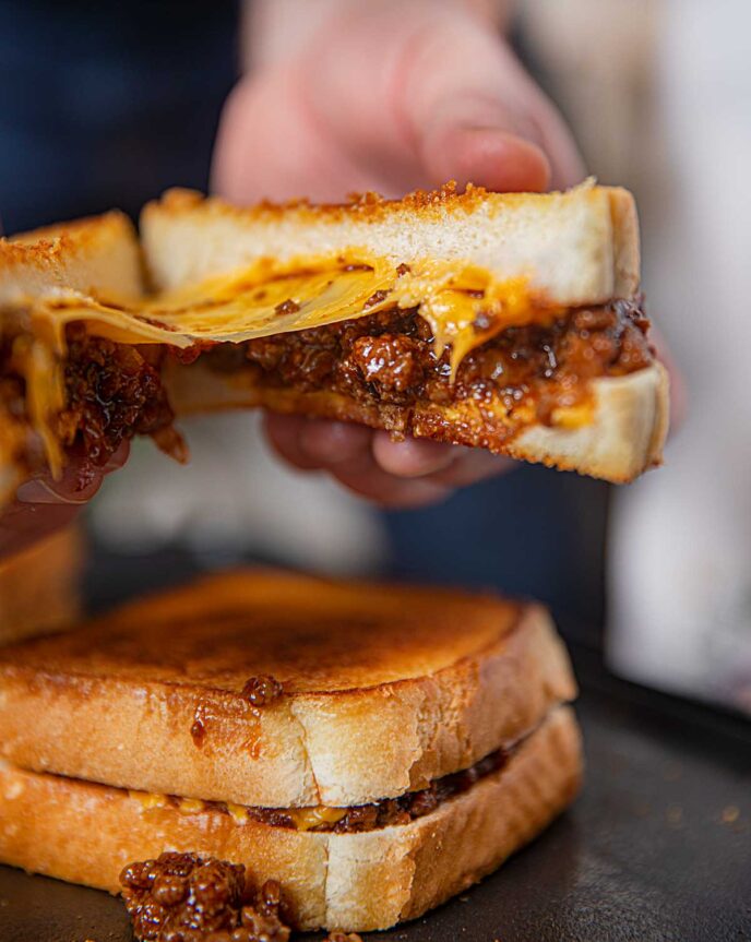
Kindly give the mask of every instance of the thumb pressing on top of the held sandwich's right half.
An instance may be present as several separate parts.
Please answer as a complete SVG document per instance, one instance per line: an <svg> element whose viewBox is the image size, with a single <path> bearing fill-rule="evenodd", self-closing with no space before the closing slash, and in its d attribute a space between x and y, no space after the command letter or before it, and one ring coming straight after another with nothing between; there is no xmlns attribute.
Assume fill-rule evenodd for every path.
<svg viewBox="0 0 751 942"><path fill-rule="evenodd" d="M552 105L508 45L470 17L433 21L409 49L394 94L431 182L541 191L584 176Z"/></svg>

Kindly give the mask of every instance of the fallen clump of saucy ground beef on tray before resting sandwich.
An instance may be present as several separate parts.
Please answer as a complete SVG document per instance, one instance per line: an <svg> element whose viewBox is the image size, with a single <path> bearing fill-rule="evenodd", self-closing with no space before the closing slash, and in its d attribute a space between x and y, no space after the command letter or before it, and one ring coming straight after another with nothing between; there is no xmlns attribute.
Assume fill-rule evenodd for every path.
<svg viewBox="0 0 751 942"><path fill-rule="evenodd" d="M142 942L287 942L276 881L254 897L246 869L193 854L163 854L120 874L122 897Z"/></svg>

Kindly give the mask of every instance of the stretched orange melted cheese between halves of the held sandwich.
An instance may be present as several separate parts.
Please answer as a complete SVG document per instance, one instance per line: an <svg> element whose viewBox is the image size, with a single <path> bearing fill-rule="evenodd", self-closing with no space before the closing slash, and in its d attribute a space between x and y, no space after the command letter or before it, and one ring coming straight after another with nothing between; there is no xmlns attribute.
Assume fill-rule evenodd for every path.
<svg viewBox="0 0 751 942"><path fill-rule="evenodd" d="M64 329L74 321L117 343L187 348L324 326L394 306L419 308L432 330L436 353L450 348L452 375L470 350L505 327L556 314L535 298L525 278L499 281L487 269L462 261L396 266L356 249L284 264L259 260L129 307L57 289L28 300L24 375L29 418L57 477L63 456L53 419L64 406Z"/></svg>

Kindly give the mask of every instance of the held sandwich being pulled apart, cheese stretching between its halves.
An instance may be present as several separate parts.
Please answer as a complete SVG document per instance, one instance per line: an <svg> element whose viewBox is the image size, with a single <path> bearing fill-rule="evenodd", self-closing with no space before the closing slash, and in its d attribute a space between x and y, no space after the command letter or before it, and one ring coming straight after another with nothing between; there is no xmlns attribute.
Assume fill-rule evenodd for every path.
<svg viewBox="0 0 751 942"><path fill-rule="evenodd" d="M141 245L117 213L0 241L0 488L136 433L183 457L176 413L238 406L630 480L667 424L646 327L623 190L171 191Z"/></svg>

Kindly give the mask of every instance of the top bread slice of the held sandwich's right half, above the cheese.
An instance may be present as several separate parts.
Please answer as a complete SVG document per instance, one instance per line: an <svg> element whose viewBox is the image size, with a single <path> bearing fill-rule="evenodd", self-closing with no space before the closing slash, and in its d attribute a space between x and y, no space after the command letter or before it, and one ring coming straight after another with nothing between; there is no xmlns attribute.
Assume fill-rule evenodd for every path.
<svg viewBox="0 0 751 942"><path fill-rule="evenodd" d="M402 200L368 193L342 205L249 208L169 191L148 203L141 235L154 287L177 288L260 258L366 250L395 264L463 260L498 279L524 276L553 305L599 303L639 290L631 194L591 181L565 193L490 193L451 186Z"/></svg>

